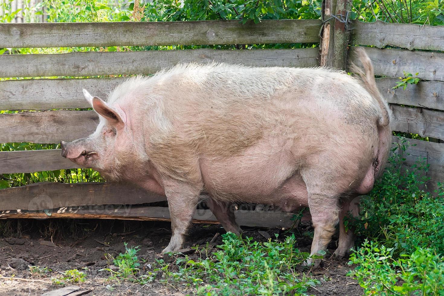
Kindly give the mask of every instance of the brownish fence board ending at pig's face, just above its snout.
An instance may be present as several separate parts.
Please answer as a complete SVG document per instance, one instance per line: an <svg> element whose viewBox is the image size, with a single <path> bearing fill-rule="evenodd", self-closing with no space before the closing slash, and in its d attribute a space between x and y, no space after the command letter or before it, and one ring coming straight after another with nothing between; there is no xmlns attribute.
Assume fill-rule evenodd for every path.
<svg viewBox="0 0 444 296"><path fill-rule="evenodd" d="M91 134L98 122L94 111L0 114L0 143L72 141Z"/></svg>

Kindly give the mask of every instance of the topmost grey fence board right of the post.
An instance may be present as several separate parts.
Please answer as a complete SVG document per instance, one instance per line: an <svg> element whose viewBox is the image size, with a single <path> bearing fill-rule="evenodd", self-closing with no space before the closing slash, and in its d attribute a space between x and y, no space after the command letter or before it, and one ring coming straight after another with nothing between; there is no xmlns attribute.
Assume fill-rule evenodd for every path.
<svg viewBox="0 0 444 296"><path fill-rule="evenodd" d="M351 43L444 51L444 26L352 21Z"/></svg>

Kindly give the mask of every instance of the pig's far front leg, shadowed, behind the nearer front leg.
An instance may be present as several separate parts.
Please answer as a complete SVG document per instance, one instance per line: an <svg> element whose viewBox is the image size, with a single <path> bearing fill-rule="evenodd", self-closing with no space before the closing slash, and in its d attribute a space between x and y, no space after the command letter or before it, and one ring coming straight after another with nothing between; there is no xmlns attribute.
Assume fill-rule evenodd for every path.
<svg viewBox="0 0 444 296"><path fill-rule="evenodd" d="M206 201L206 205L226 232L236 233L237 235L242 233L242 229L236 223L234 217L234 203L209 199Z"/></svg>

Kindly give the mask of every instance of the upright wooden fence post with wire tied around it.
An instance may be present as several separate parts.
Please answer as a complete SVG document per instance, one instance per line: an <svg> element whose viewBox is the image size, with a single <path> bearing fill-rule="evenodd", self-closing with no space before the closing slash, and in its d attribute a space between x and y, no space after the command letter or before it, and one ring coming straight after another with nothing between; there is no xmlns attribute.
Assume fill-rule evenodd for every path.
<svg viewBox="0 0 444 296"><path fill-rule="evenodd" d="M348 0L322 1L320 65L345 70L349 32L347 30Z"/></svg>

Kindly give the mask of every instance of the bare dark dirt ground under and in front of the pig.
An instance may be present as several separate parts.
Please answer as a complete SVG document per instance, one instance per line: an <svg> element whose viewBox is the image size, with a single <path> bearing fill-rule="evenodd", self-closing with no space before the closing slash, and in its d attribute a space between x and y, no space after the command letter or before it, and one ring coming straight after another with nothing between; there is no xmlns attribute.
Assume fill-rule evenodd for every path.
<svg viewBox="0 0 444 296"><path fill-rule="evenodd" d="M14 235L0 238L0 276L2 276L0 296L41 295L62 288L63 286L52 284L51 277L60 274L61 271L75 268L87 273L86 281L67 286L79 286L79 291L87 292L83 295L193 295L194 290L191 288L165 284L157 279L145 285L129 281L121 281L120 284L116 281L110 282L109 272L99 271L112 264L105 254L117 256L119 253L124 253L123 242L127 242L128 246L141 246L139 258L147 261L141 264L140 268L142 272L148 271L151 263L155 262L155 258L159 258L160 251L169 242L170 223L51 220L14 221L13 227L20 225L20 230L23 232L17 234L17 231L13 231ZM257 241L266 241L266 238L258 232L266 229L245 230L246 236L254 237ZM281 230L268 229L267 232L274 237L273 234L280 233ZM195 224L189 231L185 246L189 248L193 245L205 245L216 233L224 233L220 225ZM311 239L300 233L302 232L298 229L297 247L301 251L308 252ZM222 243L222 237L218 236L214 242ZM331 247L334 248L334 242ZM197 254L189 256L198 259ZM52 271L32 274L29 266L46 267ZM362 288L350 276L346 276L350 268L353 267L347 265L347 260L324 261L322 267L310 274L320 280L321 284L311 288L308 293L362 295ZM304 272L308 271L307 269ZM11 277L26 280L11 279ZM113 291L109 290L110 286L107 288L109 284L114 288Z"/></svg>

